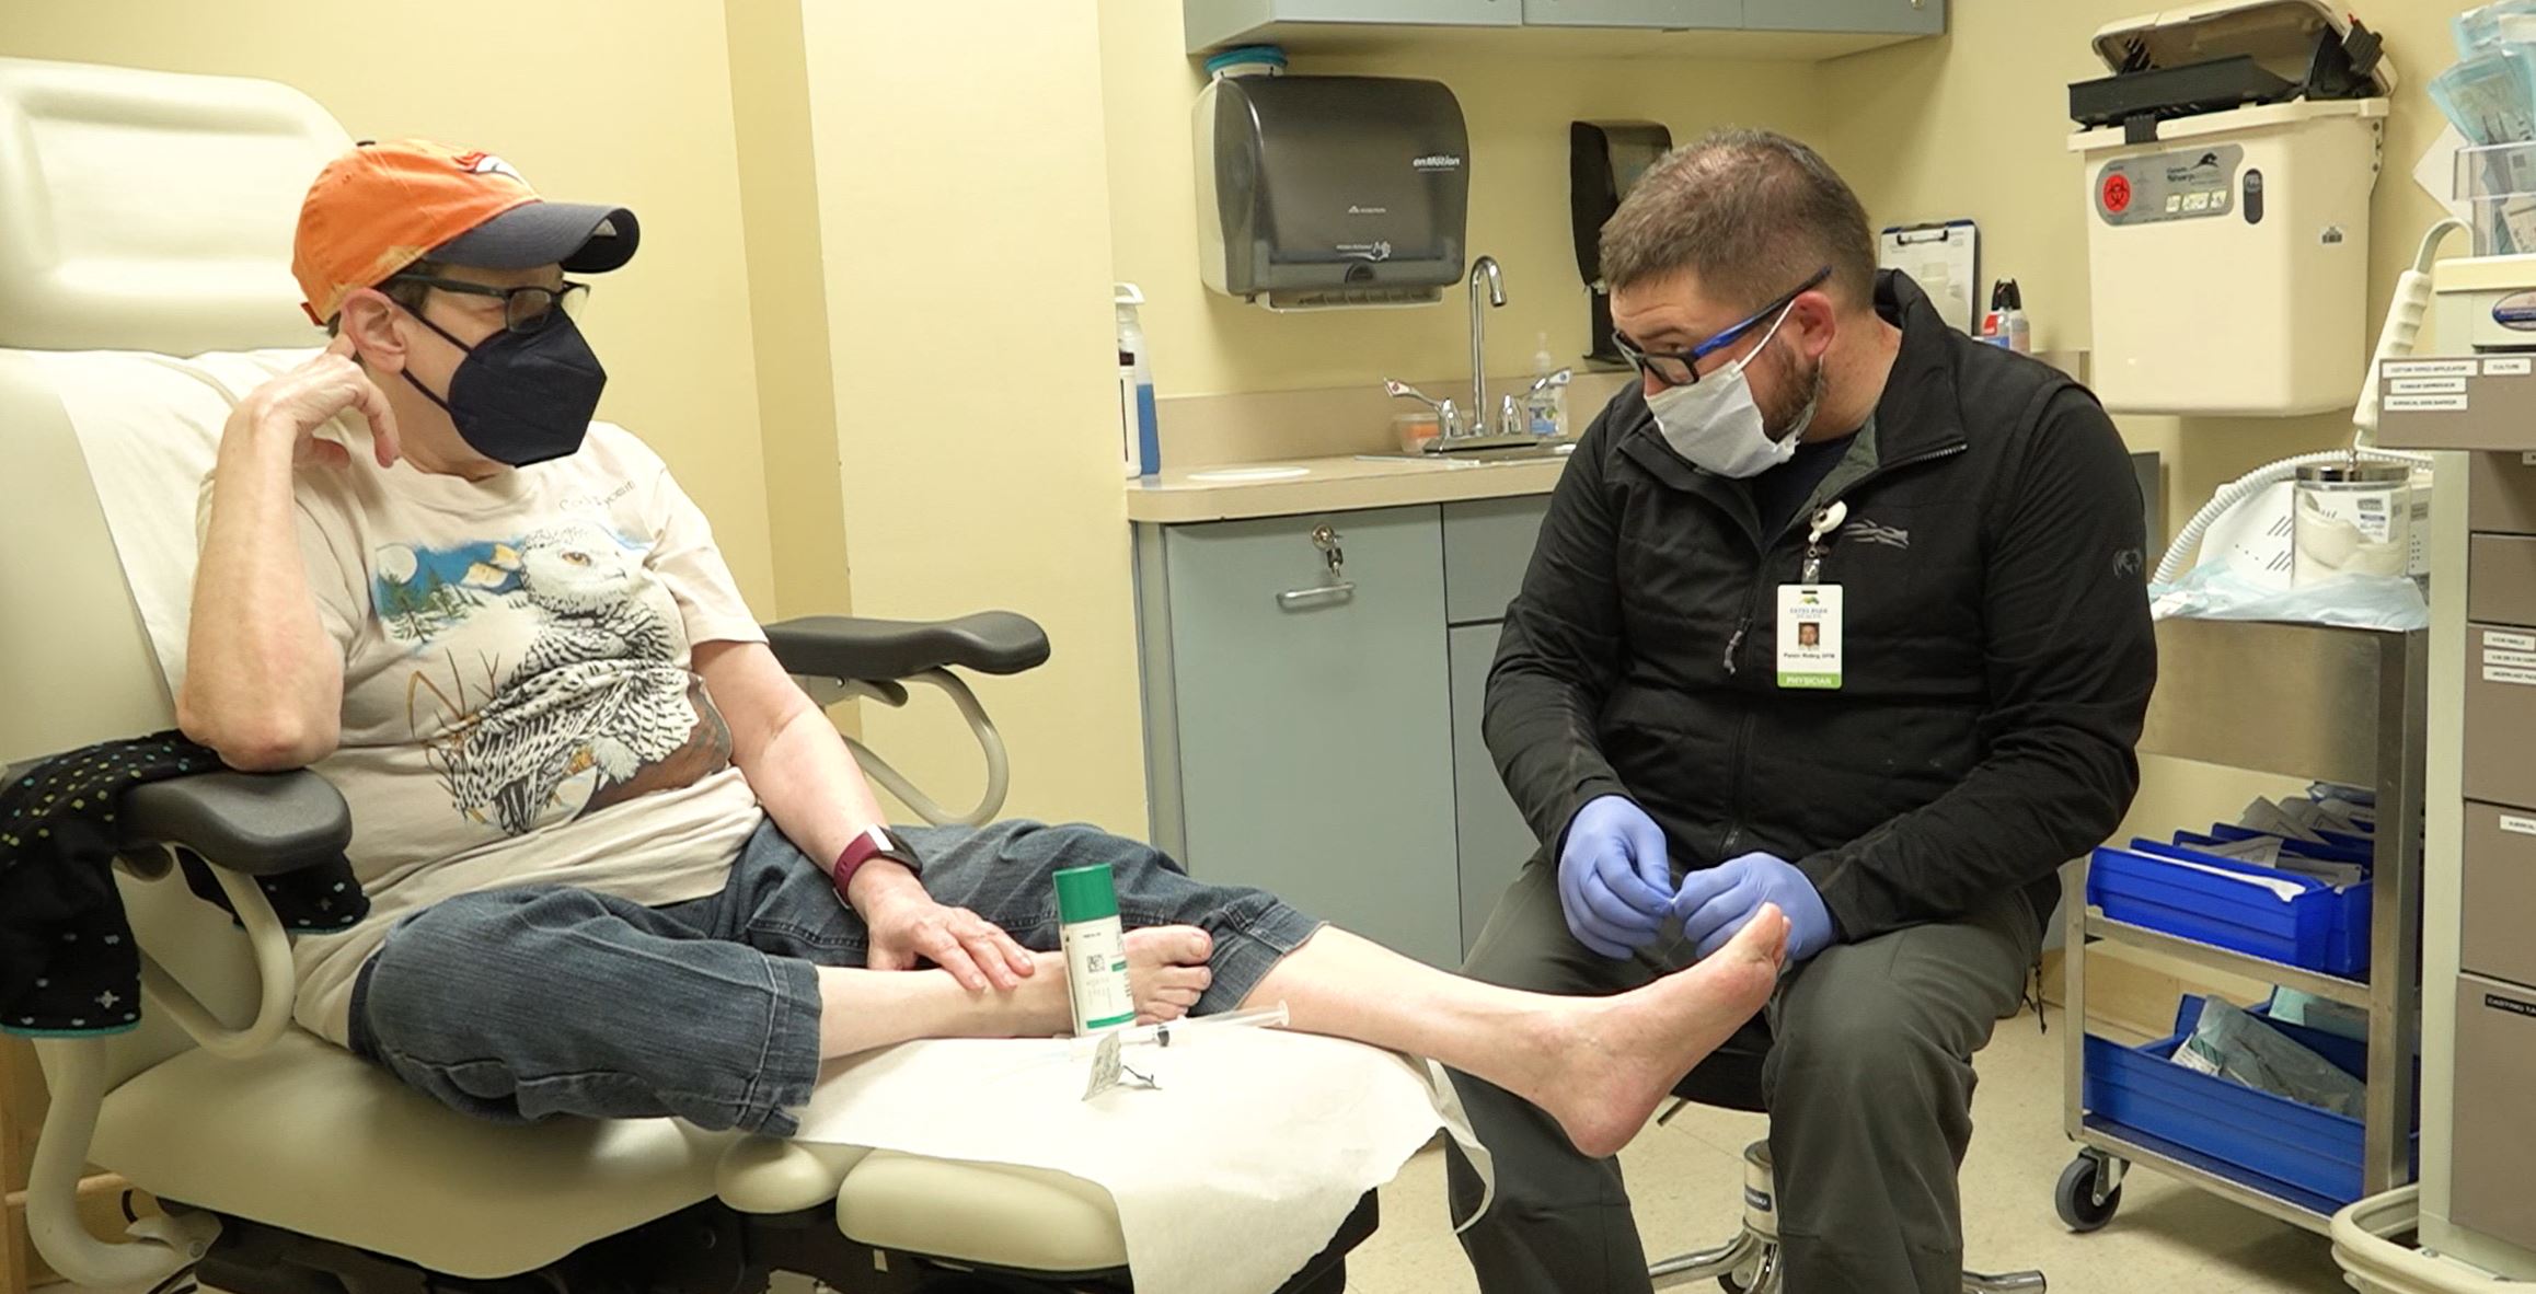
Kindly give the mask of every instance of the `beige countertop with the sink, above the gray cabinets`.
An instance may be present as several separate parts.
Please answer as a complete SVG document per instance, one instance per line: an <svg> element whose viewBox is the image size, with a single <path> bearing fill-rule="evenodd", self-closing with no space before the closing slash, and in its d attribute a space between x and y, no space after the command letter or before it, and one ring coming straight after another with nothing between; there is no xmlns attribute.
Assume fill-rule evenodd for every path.
<svg viewBox="0 0 2536 1294"><path fill-rule="evenodd" d="M1126 520L1184 525L1547 495L1565 467L1565 454L1514 462L1336 457L1187 467L1126 482Z"/></svg>

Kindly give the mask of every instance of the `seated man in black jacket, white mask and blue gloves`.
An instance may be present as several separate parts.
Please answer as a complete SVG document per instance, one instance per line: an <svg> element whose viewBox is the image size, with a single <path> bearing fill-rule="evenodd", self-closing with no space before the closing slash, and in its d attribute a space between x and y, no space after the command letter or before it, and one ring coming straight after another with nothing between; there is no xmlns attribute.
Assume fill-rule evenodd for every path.
<svg viewBox="0 0 2536 1294"><path fill-rule="evenodd" d="M1585 431L1486 738L1544 842L1468 972L1618 992L1793 918L1765 1068L1788 1289L1955 1291L1973 1053L2156 680L2128 452L2062 373L1877 271L1806 145L1722 132L1603 228L1641 386ZM1489 1291L1648 1289L1615 1160L1456 1076ZM1453 1157L1456 1208L1478 1203Z"/></svg>

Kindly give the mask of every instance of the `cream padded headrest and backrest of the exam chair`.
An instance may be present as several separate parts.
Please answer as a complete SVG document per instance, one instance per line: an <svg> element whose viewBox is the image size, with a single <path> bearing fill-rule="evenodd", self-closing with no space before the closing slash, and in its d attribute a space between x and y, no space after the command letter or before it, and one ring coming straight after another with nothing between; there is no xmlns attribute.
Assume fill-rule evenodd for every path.
<svg viewBox="0 0 2536 1294"><path fill-rule="evenodd" d="M167 728L175 708L96 487L33 350L314 345L299 195L347 137L271 81L0 58L0 764ZM150 363L134 358L132 363ZM233 1023L243 941L183 886L127 883L142 941ZM145 1007L109 1083L190 1040Z"/></svg>

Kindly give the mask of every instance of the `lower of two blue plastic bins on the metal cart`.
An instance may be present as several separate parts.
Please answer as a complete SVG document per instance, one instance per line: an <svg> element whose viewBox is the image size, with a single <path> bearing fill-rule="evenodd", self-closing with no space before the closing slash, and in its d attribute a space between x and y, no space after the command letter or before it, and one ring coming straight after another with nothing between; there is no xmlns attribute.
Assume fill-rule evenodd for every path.
<svg viewBox="0 0 2536 1294"><path fill-rule="evenodd" d="M2255 1012L2262 1015L2260 1010ZM2186 1149L2204 1167L2318 1213L2361 1198L2361 1121L2189 1071L2173 1053L2201 1023L2201 997L2176 1010L2176 1035L2125 1048L2087 1038L2085 1094L2095 1124L2151 1144ZM2351 1038L2265 1020L2356 1078L2369 1073L2369 1045ZM2145 1134L2145 1137L2143 1137Z"/></svg>

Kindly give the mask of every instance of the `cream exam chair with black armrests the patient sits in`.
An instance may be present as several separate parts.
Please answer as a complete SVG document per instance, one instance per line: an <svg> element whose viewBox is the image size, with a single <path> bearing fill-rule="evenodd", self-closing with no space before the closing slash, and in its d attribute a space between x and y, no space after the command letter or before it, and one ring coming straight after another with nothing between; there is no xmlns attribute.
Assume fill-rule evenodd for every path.
<svg viewBox="0 0 2536 1294"><path fill-rule="evenodd" d="M347 147L307 96L243 79L0 58L0 766L172 726L107 510L46 350L152 355L307 348L287 259L299 193ZM178 200L170 200L178 198ZM109 393L112 396L112 393ZM145 411L147 414L147 411ZM951 695L1004 748L959 672L1047 657L1017 614L946 624L768 627L819 700ZM462 1116L292 1025L289 941L256 880L337 853L345 802L314 774L205 774L119 804L117 886L147 957L139 1028L41 1038L51 1109L28 1228L79 1284L142 1289L185 1266L231 1294L751 1294L776 1271L839 1291L1129 1291L1116 1208L1090 1182L672 1119ZM236 921L188 893L198 858ZM84 1231L86 1165L155 1195L127 1236ZM1344 1289L1372 1195L1286 1289ZM165 1286L162 1284L162 1286Z"/></svg>

